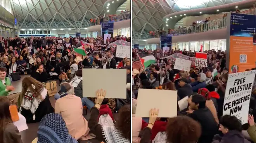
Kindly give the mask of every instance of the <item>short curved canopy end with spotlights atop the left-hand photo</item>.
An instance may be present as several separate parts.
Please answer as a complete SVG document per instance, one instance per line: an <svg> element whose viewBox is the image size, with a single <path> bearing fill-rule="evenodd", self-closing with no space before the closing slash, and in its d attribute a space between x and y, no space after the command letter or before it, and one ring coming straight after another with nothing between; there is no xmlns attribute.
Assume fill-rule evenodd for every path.
<svg viewBox="0 0 256 143"><path fill-rule="evenodd" d="M116 14L118 7L126 1L127 0L107 0L103 5L106 15Z"/></svg>

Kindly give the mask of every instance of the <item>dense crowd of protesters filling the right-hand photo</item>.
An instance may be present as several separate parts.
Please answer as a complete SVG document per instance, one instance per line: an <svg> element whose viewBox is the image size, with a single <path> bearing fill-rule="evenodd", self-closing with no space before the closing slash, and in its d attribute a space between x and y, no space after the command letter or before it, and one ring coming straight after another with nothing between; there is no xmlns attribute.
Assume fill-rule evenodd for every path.
<svg viewBox="0 0 256 143"><path fill-rule="evenodd" d="M195 52L161 49L133 49L132 71L132 126L133 143L256 143L256 79L250 97L248 123L242 124L236 116L223 116L228 69L224 51L208 50L207 67L191 66L190 71L174 69L175 53L194 57ZM151 54L156 63L143 68L138 55ZM167 55L166 55L167 54ZM212 74L214 69L218 74ZM247 69L246 71L254 70ZM255 77L256 78L256 77ZM177 91L177 102L189 96L189 106L175 118L158 118L158 109L149 111L150 118L136 117L138 89ZM171 104L171 102L170 102ZM177 104L178 105L178 104Z"/></svg>

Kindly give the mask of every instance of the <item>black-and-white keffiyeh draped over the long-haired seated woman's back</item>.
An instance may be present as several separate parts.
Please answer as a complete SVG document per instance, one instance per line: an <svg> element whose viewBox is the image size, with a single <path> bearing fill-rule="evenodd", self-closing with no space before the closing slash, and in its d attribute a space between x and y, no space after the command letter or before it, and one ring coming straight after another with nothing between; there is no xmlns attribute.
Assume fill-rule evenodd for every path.
<svg viewBox="0 0 256 143"><path fill-rule="evenodd" d="M32 84L32 87L35 89L35 86ZM38 108L39 104L45 99L47 96L47 89L42 87L40 90L41 99L37 96L35 97L35 94L32 93L29 89L27 89L25 95L23 96L21 107L23 107L26 110L30 110L33 114L33 120L36 119L35 112ZM21 113L22 108L20 107L19 113Z"/></svg>

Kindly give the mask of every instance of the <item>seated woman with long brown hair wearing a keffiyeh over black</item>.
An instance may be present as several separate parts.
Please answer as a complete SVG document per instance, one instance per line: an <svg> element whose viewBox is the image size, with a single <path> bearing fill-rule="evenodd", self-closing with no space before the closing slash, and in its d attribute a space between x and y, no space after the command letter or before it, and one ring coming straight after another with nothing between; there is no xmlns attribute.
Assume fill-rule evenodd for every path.
<svg viewBox="0 0 256 143"><path fill-rule="evenodd" d="M39 122L43 116L54 112L47 89L33 77L25 77L22 80L18 108L19 112L26 118L27 123Z"/></svg>

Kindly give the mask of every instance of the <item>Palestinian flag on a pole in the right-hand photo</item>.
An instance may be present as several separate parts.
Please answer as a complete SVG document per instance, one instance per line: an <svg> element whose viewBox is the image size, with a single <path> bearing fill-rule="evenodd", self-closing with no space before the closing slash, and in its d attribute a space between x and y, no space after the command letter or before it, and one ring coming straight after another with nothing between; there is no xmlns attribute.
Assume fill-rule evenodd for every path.
<svg viewBox="0 0 256 143"><path fill-rule="evenodd" d="M151 64L156 63L156 58L152 54L139 53L138 57L140 59L142 67L144 67L144 68L147 68Z"/></svg>

